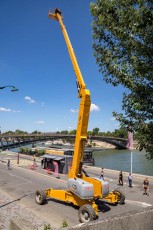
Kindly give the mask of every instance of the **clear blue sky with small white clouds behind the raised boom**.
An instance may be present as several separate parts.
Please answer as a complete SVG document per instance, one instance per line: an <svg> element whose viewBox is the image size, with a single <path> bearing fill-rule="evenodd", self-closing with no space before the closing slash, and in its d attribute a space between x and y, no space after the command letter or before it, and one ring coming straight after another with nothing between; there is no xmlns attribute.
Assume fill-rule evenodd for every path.
<svg viewBox="0 0 153 230"><path fill-rule="evenodd" d="M92 48L89 0L0 1L1 132L74 130L80 99L76 77L58 21L48 11L59 8L64 16L86 88L91 94L88 130L119 128L112 116L121 112L123 88L103 80Z"/></svg>

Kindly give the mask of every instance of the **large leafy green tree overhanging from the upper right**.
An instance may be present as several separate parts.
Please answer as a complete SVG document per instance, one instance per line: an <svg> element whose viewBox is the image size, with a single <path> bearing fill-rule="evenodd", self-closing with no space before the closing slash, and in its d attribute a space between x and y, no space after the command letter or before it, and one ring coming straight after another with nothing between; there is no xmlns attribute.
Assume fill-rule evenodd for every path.
<svg viewBox="0 0 153 230"><path fill-rule="evenodd" d="M124 114L113 115L132 127L139 150L153 159L153 2L97 0L91 12L99 71L107 83L125 88Z"/></svg>

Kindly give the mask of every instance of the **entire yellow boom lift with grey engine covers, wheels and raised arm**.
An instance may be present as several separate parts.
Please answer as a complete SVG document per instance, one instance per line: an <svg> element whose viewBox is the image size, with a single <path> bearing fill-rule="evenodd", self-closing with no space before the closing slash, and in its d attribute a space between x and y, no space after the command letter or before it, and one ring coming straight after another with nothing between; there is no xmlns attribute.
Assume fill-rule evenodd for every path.
<svg viewBox="0 0 153 230"><path fill-rule="evenodd" d="M37 204L43 204L47 198L51 198L58 201L64 201L65 203L71 203L79 207L78 215L80 222L89 222L98 217L98 205L96 204L98 199L112 204L121 204L124 203L125 196L119 190L109 192L108 182L96 177L89 177L82 170L91 104L90 91L86 89L71 42L63 24L63 17L60 10L56 9L54 13L49 12L48 17L57 20L61 26L76 74L80 109L72 167L68 173L68 189L56 190L49 188L46 190L37 190L35 193L35 201Z"/></svg>

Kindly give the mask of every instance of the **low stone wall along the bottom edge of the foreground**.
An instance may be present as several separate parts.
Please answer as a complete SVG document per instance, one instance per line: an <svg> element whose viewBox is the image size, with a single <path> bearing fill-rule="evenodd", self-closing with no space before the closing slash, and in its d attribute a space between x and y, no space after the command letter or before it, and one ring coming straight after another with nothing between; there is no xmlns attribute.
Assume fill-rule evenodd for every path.
<svg viewBox="0 0 153 230"><path fill-rule="evenodd" d="M22 227L21 227L22 226ZM10 221L10 230L36 230L29 221L22 221L22 219L12 219ZM63 229L63 228L62 228ZM139 211L132 211L122 216L115 216L105 221L89 222L88 224L79 224L65 230L153 230L153 207L141 209Z"/></svg>

